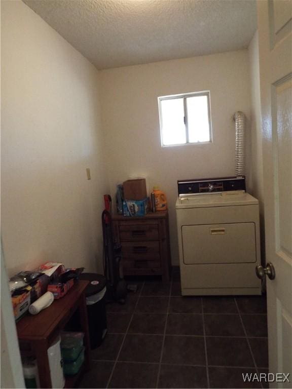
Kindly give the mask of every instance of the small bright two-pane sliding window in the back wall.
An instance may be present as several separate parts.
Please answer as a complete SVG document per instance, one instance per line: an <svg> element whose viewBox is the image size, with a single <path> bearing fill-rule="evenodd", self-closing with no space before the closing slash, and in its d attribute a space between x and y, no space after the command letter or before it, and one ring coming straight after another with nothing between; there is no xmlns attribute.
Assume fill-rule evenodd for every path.
<svg viewBox="0 0 292 389"><path fill-rule="evenodd" d="M158 97L162 146L211 142L210 92Z"/></svg>

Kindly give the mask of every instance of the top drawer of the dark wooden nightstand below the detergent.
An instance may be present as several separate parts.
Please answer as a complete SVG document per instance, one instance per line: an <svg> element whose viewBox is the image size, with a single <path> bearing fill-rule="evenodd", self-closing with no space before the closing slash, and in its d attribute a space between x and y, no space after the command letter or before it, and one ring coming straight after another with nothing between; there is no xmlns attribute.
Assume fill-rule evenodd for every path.
<svg viewBox="0 0 292 389"><path fill-rule="evenodd" d="M120 224L119 234L121 241L159 239L157 224Z"/></svg>

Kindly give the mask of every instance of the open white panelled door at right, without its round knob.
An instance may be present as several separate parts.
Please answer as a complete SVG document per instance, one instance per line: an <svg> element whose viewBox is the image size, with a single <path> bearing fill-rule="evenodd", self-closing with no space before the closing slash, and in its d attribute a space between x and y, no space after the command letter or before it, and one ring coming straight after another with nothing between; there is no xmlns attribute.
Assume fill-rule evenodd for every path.
<svg viewBox="0 0 292 389"><path fill-rule="evenodd" d="M259 0L258 28L265 187L269 369L292 387L292 2Z"/></svg>

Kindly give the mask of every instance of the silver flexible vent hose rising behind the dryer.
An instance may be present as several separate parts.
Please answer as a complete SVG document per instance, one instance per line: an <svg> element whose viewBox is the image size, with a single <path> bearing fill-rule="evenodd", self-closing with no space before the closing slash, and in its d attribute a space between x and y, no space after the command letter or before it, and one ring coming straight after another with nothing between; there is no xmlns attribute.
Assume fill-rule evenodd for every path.
<svg viewBox="0 0 292 389"><path fill-rule="evenodd" d="M235 120L235 172L237 177L244 176L244 130L245 130L245 115L241 111L234 114Z"/></svg>

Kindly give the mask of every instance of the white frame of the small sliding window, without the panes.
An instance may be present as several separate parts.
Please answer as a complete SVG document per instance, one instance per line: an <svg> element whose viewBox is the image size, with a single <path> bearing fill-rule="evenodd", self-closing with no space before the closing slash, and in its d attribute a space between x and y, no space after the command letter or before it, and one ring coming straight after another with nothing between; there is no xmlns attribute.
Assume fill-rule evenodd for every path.
<svg viewBox="0 0 292 389"><path fill-rule="evenodd" d="M206 142L189 142L189 128L188 128L188 107L187 107L187 98L188 97L196 97L196 96L207 96L207 104L208 104L208 121L209 121L209 137L210 140ZM162 139L162 129L163 129L163 121L162 121L162 108L161 101L163 100L171 100L171 99L184 99L184 123L186 129L186 143L177 143L177 144L163 144ZM185 145L196 145L196 144L207 144L212 143L212 122L211 122L211 108L210 108L210 91L201 91L201 92L191 92L184 93L179 95L169 95L169 96L160 96L158 97L158 105L159 105L159 123L160 123L160 139L162 147L173 147L173 146L185 146Z"/></svg>

